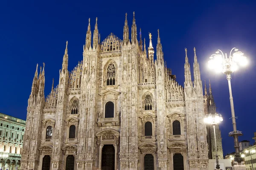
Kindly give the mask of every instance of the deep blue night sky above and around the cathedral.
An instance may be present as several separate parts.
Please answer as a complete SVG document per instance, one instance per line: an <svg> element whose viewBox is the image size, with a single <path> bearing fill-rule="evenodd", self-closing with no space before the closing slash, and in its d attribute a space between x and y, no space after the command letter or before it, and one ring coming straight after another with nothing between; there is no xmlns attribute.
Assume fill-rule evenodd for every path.
<svg viewBox="0 0 256 170"><path fill-rule="evenodd" d="M223 1L223 0L222 0ZM224 0L225 1L225 0ZM167 67L172 68L180 85L184 82L184 48L188 49L190 65L193 65L195 46L201 79L211 80L217 112L224 116L221 123L224 155L234 151L229 91L224 74L211 73L207 69L208 57L216 50L229 53L239 48L250 60L250 65L232 75L232 89L237 129L243 131L241 140L253 144L255 116L255 47L256 2L253 0L204 1L10 1L0 2L0 113L26 119L26 107L31 92L36 64L45 62L45 96L59 79L62 58L68 41L71 71L82 60L83 45L91 18L94 29L98 17L101 40L111 32L122 39L125 12L131 31L133 11L137 30L142 29L148 44L148 32L152 34L154 48L157 29L163 45ZM232 2L232 3L231 3ZM93 31L93 30L92 30ZM131 34L131 32L130 32ZM139 35L139 33L138 33Z"/></svg>

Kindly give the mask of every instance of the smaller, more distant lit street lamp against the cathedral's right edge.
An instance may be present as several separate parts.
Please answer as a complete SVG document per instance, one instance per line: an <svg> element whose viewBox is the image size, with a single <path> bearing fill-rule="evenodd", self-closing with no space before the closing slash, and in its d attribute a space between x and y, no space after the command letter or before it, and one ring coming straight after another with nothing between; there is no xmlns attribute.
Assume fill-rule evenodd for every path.
<svg viewBox="0 0 256 170"><path fill-rule="evenodd" d="M218 164L218 153L217 153L217 142L216 142L216 133L215 133L215 125L217 125L219 122L222 122L223 118L221 114L215 113L214 115L209 113L205 115L204 122L211 124L214 131L214 140L215 140L215 151L216 151L216 169L220 169L220 165Z"/></svg>

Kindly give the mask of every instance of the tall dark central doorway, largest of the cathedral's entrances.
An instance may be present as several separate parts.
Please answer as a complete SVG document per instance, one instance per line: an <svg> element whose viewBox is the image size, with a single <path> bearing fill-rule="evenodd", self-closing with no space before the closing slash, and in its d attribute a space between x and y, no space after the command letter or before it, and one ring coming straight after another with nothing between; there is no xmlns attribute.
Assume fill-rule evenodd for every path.
<svg viewBox="0 0 256 170"><path fill-rule="evenodd" d="M102 170L115 169L115 148L113 144L105 144L102 148Z"/></svg>

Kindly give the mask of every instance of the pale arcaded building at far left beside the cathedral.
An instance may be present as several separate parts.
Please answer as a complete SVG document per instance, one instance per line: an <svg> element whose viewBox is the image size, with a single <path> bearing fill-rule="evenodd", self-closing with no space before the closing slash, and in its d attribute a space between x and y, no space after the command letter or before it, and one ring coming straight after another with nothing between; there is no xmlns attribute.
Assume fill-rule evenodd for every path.
<svg viewBox="0 0 256 170"><path fill-rule="evenodd" d="M0 169L20 170L26 121L0 113Z"/></svg>

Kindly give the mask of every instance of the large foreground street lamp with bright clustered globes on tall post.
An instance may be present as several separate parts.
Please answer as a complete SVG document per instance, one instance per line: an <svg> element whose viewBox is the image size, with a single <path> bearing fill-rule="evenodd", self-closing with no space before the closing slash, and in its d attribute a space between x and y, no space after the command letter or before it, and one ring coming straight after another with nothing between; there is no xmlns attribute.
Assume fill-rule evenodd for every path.
<svg viewBox="0 0 256 170"><path fill-rule="evenodd" d="M232 51L234 50L233 55L231 55ZM221 53L220 53L221 52ZM216 72L222 72L226 74L227 82L228 82L228 88L230 92L230 106L231 106L231 114L232 114L232 124L233 124L233 131L229 133L229 136L234 137L234 143L235 143L235 158L234 161L241 162L241 155L239 153L239 143L238 143L238 136L242 136L242 132L239 130L236 130L236 117L235 117L235 111L234 111L234 103L233 103L233 96L232 96L232 90L231 90L231 73L236 71L238 69L238 64L241 66L247 65L247 58L244 56L244 53L241 51L238 51L237 48L232 48L230 51L229 57L227 57L227 53L224 55L221 50L216 51L216 54L212 54L211 57L209 57L210 60L208 61L209 68L215 70Z"/></svg>

